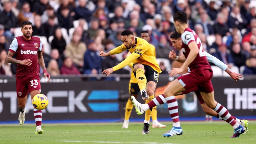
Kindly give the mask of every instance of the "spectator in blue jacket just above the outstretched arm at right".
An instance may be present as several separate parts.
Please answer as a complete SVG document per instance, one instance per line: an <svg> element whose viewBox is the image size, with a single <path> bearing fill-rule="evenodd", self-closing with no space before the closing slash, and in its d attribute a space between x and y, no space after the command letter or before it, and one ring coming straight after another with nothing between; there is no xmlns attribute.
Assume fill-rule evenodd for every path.
<svg viewBox="0 0 256 144"><path fill-rule="evenodd" d="M228 65L228 68L231 68L233 67L233 65L235 65L235 61L232 58L229 51L227 50L226 44L220 44L217 52L213 53L212 55L220 61L222 61L223 63L225 63L226 65Z"/></svg>

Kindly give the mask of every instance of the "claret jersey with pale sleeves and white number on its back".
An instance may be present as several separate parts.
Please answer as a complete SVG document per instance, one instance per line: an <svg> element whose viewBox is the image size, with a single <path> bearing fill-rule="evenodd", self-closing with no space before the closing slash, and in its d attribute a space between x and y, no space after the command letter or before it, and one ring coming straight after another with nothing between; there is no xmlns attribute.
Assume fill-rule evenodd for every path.
<svg viewBox="0 0 256 144"><path fill-rule="evenodd" d="M199 53L197 54L196 58L188 66L191 71L193 69L196 69L196 70L211 69L212 70L205 56L202 42L197 36L197 34L195 33L195 31L191 30L190 28L186 28L185 32L181 35L181 40L183 42L182 52L185 55L186 59L188 58L188 54L190 52L190 49L188 48L189 43L193 41L196 42L199 49Z"/></svg>

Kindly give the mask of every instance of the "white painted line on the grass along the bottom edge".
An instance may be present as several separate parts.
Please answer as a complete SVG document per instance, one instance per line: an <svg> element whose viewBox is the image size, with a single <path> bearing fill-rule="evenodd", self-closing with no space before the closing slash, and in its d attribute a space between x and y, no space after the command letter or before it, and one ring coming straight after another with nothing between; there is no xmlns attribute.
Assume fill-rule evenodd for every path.
<svg viewBox="0 0 256 144"><path fill-rule="evenodd" d="M119 141L78 141L78 140L61 140L60 142L78 142L78 143L118 143L118 144L174 144L159 142L119 142Z"/></svg>

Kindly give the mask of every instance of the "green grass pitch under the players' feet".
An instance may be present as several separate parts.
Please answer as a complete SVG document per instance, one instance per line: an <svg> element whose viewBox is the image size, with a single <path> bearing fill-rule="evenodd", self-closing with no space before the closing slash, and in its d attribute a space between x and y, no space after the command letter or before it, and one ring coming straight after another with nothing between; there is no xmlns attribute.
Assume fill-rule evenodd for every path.
<svg viewBox="0 0 256 144"><path fill-rule="evenodd" d="M0 125L0 144L256 144L256 121L250 121L247 134L229 138L232 127L223 122L181 122L183 135L164 138L172 127L150 127L149 134L142 134L143 123L130 123L122 129L122 123L97 124L43 124L43 134L35 134L35 124Z"/></svg>

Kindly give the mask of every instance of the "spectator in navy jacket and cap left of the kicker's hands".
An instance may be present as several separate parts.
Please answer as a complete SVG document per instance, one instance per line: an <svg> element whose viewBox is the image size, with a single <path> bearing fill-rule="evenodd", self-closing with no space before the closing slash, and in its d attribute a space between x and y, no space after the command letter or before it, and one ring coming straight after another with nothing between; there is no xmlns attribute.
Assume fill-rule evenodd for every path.
<svg viewBox="0 0 256 144"><path fill-rule="evenodd" d="M84 53L84 74L99 74L102 58L99 56L97 46L93 40L88 44L88 50Z"/></svg>

